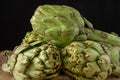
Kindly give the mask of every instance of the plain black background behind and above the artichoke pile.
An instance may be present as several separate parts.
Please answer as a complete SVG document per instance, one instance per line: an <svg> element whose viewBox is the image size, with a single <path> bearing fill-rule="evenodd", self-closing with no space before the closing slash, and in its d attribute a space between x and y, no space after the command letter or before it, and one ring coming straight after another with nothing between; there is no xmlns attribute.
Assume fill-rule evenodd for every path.
<svg viewBox="0 0 120 80"><path fill-rule="evenodd" d="M119 1L119 0L118 0ZM62 4L76 8L94 28L119 33L120 2L117 0L0 0L0 50L19 45L38 5Z"/></svg>

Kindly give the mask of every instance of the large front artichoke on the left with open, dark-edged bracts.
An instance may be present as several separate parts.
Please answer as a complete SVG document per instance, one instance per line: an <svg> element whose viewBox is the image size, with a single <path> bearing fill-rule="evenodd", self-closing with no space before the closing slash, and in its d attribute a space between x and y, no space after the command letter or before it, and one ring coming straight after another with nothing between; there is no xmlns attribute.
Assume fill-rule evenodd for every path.
<svg viewBox="0 0 120 80"><path fill-rule="evenodd" d="M58 76L60 66L59 49L52 43L35 41L17 46L2 68L15 80L43 80Z"/></svg>

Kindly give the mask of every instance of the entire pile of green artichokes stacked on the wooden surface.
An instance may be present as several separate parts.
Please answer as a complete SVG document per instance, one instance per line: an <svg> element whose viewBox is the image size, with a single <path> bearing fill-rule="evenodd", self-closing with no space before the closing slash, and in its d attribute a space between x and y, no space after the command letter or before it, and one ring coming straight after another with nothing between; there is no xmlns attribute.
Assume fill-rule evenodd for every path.
<svg viewBox="0 0 120 80"><path fill-rule="evenodd" d="M74 80L105 80L120 75L120 37L93 28L66 5L38 6L32 31L2 65L15 80L46 80L61 72Z"/></svg>

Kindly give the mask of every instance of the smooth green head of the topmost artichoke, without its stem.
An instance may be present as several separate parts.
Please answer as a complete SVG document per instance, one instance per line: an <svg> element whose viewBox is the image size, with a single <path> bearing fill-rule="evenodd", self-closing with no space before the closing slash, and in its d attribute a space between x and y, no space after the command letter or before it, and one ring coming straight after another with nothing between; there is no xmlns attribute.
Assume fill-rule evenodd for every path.
<svg viewBox="0 0 120 80"><path fill-rule="evenodd" d="M30 22L34 31L59 47L68 45L84 27L81 14L65 5L38 6Z"/></svg>

